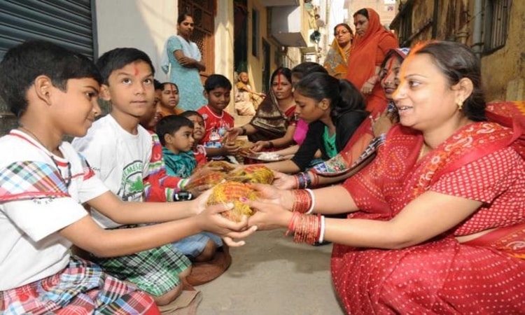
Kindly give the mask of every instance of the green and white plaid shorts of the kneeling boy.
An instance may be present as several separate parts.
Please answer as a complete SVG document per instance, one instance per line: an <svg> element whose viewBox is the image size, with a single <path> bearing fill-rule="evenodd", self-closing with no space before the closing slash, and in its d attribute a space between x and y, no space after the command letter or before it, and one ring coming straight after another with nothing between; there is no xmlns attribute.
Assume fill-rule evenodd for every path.
<svg viewBox="0 0 525 315"><path fill-rule="evenodd" d="M181 283L179 274L191 262L171 244L131 255L99 258L91 255L104 272L120 280L130 281L141 290L155 296L163 295Z"/></svg>

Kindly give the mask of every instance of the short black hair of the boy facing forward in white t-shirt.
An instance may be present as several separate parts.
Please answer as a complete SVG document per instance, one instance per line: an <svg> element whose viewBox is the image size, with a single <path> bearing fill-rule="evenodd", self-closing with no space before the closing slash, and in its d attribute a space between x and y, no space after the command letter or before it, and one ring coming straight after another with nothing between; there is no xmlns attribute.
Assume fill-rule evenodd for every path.
<svg viewBox="0 0 525 315"><path fill-rule="evenodd" d="M150 57L146 52L138 50L137 48L115 48L104 52L97 60L97 67L104 79L103 83L109 85L109 76L113 71L123 69L128 64L139 61L146 62L151 68L151 73L155 75L155 67L153 63L151 63Z"/></svg>

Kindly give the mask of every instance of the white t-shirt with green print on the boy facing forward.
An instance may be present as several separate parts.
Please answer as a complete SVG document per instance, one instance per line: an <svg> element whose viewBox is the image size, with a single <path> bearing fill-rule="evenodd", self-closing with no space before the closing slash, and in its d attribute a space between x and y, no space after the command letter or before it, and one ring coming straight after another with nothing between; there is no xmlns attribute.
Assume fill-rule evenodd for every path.
<svg viewBox="0 0 525 315"><path fill-rule="evenodd" d="M148 174L153 142L141 125L130 134L107 115L95 121L87 134L73 139L73 147L82 153L106 186L124 201L144 200L143 179ZM119 223L92 209L92 216L103 228L116 228Z"/></svg>

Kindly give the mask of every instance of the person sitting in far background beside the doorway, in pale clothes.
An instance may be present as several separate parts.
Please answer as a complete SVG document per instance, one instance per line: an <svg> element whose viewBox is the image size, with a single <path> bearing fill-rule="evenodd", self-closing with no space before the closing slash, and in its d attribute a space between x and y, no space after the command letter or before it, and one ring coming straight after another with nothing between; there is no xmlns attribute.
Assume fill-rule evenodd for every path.
<svg viewBox="0 0 525 315"><path fill-rule="evenodd" d="M234 91L235 111L241 116L255 115L255 111L258 109L260 102L262 102L262 97L266 96L263 93L258 93L253 90L248 78L248 72L246 71L239 72L239 78L234 85Z"/></svg>

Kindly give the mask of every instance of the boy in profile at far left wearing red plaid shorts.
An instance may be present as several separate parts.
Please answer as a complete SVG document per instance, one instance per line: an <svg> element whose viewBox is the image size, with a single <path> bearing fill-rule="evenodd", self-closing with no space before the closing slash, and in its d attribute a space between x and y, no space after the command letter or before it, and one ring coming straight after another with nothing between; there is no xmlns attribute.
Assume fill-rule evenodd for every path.
<svg viewBox="0 0 525 315"><path fill-rule="evenodd" d="M82 137L92 125L101 82L83 55L45 41L11 48L0 62L0 96L20 125L0 138L9 152L0 155L2 314L158 314L149 295L71 256L71 244L109 257L168 244L202 226L218 225L213 232L223 234L244 227L217 216L224 207L200 212L203 200L122 202L109 192L62 142L64 135ZM165 223L104 230L81 203L122 224ZM185 210L193 216L174 221Z"/></svg>

